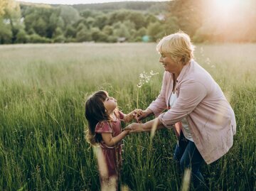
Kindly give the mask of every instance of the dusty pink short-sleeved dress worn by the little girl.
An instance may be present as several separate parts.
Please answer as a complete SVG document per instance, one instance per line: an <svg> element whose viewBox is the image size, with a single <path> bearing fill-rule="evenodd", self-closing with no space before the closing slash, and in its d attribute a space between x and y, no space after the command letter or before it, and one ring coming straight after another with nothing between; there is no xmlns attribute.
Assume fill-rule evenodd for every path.
<svg viewBox="0 0 256 191"><path fill-rule="evenodd" d="M121 120L124 119L124 114L118 111L119 116L117 116L117 121L101 121L95 127L95 133L112 133L112 137L119 135L122 132ZM121 120L120 120L121 119ZM117 176L119 179L119 171L122 164L122 146L121 141L117 143L115 146L107 146L105 142L102 140L100 141L100 147L102 148L102 153L104 155L105 163L107 164L107 175L108 178L112 176ZM102 181L103 178L100 175L100 180Z"/></svg>

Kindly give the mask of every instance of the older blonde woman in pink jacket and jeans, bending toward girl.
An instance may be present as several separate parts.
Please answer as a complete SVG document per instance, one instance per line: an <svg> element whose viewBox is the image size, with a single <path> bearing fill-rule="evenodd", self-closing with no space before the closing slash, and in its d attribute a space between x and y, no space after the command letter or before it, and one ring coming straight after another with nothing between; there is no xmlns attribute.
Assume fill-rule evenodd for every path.
<svg viewBox="0 0 256 191"><path fill-rule="evenodd" d="M193 60L193 45L186 33L160 40L156 50L164 66L161 92L139 119L154 114L156 119L131 124L130 133L174 127L178 143L174 151L181 170L191 167L194 185L203 182L199 168L225 155L233 145L235 114L213 77ZM162 113L165 109L166 112Z"/></svg>

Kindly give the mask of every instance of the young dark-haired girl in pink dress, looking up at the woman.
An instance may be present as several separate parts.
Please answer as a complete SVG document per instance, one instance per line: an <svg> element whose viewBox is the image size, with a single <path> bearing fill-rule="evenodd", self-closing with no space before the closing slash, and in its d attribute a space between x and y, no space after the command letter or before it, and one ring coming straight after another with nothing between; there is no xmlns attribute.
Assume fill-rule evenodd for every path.
<svg viewBox="0 0 256 191"><path fill-rule="evenodd" d="M105 91L93 94L85 104L85 118L88 121L87 141L95 146L100 145L97 163L100 171L102 190L117 190L119 171L121 167L121 141L129 134L122 131L121 120L129 122L137 114L135 109L129 114L123 114L117 109L117 100Z"/></svg>

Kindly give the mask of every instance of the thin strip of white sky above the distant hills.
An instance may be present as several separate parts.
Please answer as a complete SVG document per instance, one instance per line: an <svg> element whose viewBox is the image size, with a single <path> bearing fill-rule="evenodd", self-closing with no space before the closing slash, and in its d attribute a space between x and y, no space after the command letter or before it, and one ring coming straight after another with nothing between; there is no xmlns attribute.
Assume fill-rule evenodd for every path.
<svg viewBox="0 0 256 191"><path fill-rule="evenodd" d="M119 1L138 1L138 0L16 0L23 2L31 2L37 4L97 4ZM166 0L142 0L142 1L166 1Z"/></svg>

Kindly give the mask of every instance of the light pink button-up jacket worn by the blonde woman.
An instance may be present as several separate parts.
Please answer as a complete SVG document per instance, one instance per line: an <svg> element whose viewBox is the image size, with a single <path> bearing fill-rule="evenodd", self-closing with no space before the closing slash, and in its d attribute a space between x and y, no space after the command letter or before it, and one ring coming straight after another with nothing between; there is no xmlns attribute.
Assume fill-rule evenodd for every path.
<svg viewBox="0 0 256 191"><path fill-rule="evenodd" d="M176 104L169 107L173 75L164 72L161 92L148 109L166 126L186 117L196 148L206 163L222 157L233 145L236 131L235 114L227 99L206 70L194 60L184 65L176 80Z"/></svg>

